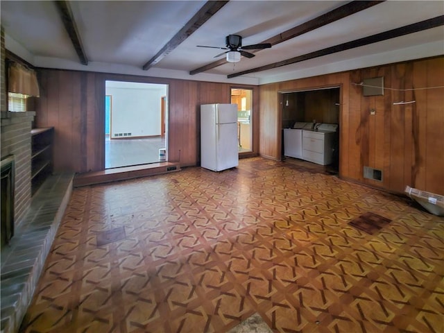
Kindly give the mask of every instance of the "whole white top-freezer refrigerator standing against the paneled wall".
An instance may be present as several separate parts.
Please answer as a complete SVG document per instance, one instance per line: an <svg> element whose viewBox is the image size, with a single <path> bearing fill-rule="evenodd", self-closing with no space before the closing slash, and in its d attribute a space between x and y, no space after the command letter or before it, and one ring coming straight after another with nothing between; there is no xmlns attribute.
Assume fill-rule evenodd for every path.
<svg viewBox="0 0 444 333"><path fill-rule="evenodd" d="M237 105L200 105L200 167L222 171L238 165Z"/></svg>

